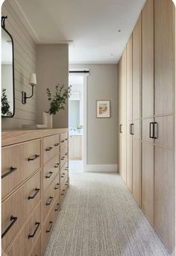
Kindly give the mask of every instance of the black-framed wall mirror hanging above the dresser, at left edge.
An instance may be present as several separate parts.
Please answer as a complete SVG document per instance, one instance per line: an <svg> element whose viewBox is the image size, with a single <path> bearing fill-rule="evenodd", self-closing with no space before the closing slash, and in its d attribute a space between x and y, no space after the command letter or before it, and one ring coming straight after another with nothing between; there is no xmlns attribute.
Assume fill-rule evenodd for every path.
<svg viewBox="0 0 176 256"><path fill-rule="evenodd" d="M1 17L1 116L14 116L14 59L13 38L5 28L5 19Z"/></svg>

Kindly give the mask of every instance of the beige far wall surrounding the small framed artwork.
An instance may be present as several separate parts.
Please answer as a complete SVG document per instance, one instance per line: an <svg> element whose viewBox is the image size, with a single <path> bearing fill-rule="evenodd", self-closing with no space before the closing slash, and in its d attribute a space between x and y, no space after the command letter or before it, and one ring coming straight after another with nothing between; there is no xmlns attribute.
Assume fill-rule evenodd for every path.
<svg viewBox="0 0 176 256"><path fill-rule="evenodd" d="M87 163L117 163L117 65L70 65L89 68L87 84ZM96 119L96 99L110 99L110 119Z"/></svg>

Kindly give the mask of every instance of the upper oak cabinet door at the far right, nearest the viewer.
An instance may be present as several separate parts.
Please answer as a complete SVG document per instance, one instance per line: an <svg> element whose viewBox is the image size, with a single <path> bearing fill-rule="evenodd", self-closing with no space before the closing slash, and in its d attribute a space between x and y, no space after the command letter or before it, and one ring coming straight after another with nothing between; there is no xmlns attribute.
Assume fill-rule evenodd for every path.
<svg viewBox="0 0 176 256"><path fill-rule="evenodd" d="M175 86L175 5L154 1L155 115L173 113Z"/></svg>

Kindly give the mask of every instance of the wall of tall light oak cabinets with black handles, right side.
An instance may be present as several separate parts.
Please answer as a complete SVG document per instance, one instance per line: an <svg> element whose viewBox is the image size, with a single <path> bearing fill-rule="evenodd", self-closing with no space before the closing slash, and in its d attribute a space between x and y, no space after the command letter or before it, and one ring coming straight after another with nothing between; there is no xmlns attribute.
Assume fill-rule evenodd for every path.
<svg viewBox="0 0 176 256"><path fill-rule="evenodd" d="M126 46L125 74L122 69L122 58L119 62L119 83L124 75L127 83L126 157L123 155L124 146L120 145L119 173L123 177L123 166L126 164L126 184L129 190L142 207L148 221L154 226L166 249L173 252L175 6L171 0L145 2ZM119 108L121 107L119 99ZM119 113L122 113L120 109ZM125 140L120 138L123 134L123 122L119 119L121 144L125 143ZM126 163L122 163L123 160L126 160Z"/></svg>

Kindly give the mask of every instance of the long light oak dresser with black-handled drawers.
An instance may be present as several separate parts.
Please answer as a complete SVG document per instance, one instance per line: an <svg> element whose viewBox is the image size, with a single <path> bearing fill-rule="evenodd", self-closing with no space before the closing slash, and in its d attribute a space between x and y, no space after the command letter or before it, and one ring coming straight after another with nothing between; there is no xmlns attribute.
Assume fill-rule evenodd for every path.
<svg viewBox="0 0 176 256"><path fill-rule="evenodd" d="M2 255L42 256L69 187L68 129L3 131Z"/></svg>

